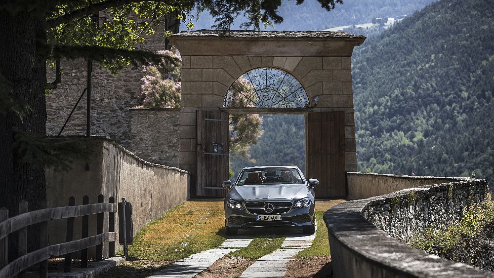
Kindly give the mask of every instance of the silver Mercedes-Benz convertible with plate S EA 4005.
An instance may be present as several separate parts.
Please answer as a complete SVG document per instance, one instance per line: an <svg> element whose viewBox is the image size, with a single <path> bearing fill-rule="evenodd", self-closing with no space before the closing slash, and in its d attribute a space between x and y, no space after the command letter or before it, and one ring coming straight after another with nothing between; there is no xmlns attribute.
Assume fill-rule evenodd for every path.
<svg viewBox="0 0 494 278"><path fill-rule="evenodd" d="M224 181L227 235L239 228L291 226L314 234L314 186L296 166L258 166L242 169L237 180Z"/></svg>

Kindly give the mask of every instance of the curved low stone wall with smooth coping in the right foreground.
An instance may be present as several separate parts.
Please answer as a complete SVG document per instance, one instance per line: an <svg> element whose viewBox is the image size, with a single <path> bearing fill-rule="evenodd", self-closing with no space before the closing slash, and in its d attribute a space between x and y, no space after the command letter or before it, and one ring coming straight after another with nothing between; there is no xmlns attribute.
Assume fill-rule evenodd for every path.
<svg viewBox="0 0 494 278"><path fill-rule="evenodd" d="M396 178L362 175L368 175L369 180ZM417 182L415 177L408 178L410 183ZM448 183L348 201L330 208L324 221L334 277L494 277L493 273L426 254L390 236L406 240L430 225L455 223L463 207L482 200L487 188L486 180L451 178Z"/></svg>

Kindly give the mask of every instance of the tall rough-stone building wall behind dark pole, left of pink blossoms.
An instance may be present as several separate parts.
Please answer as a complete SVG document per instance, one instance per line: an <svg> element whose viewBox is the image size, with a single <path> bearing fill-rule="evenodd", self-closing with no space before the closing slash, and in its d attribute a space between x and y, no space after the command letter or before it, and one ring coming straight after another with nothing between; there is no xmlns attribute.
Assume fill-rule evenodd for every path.
<svg viewBox="0 0 494 278"><path fill-rule="evenodd" d="M136 49L164 50L166 39L163 30L145 38L145 43L136 45ZM83 59L62 60L62 82L57 89L46 96L46 133L57 135L76 105L86 87L87 62ZM48 82L55 78L55 71L48 69ZM106 135L120 145L130 146L129 108L139 105L139 93L144 76L142 68L128 66L113 75L109 70L93 62L91 75L91 135ZM62 135L85 135L86 133L86 96L67 123Z"/></svg>

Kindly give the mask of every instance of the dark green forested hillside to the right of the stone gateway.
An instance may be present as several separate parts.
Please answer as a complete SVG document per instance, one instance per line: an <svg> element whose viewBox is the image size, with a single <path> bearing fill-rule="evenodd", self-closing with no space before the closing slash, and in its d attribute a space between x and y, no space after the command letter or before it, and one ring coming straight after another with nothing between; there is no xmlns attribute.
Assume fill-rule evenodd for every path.
<svg viewBox="0 0 494 278"><path fill-rule="evenodd" d="M494 178L492 0L433 3L352 62L360 171Z"/></svg>

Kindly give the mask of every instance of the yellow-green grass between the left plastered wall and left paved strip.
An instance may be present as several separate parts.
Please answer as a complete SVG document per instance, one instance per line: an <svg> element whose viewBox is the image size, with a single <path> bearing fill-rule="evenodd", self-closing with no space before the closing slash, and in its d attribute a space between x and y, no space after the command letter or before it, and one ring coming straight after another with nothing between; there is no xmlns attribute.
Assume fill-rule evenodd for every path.
<svg viewBox="0 0 494 278"><path fill-rule="evenodd" d="M147 277L225 240L222 200L190 200L151 221L134 237L127 261L104 277ZM120 251L122 254L122 251Z"/></svg>

